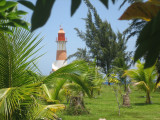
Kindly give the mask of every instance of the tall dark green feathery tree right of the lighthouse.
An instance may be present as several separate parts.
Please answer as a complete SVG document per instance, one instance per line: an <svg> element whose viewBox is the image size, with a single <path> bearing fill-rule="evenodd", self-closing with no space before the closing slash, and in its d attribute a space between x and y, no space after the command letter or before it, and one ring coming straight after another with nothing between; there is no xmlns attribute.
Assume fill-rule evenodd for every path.
<svg viewBox="0 0 160 120"><path fill-rule="evenodd" d="M121 51L121 48L119 49L121 43L111 25L107 21L102 21L89 0L85 0L85 3L89 8L87 18L84 19L86 21L86 32L81 32L77 28L75 30L78 36L86 42L92 58L96 58L96 64L103 68L103 72L107 74L117 57L117 51Z"/></svg>

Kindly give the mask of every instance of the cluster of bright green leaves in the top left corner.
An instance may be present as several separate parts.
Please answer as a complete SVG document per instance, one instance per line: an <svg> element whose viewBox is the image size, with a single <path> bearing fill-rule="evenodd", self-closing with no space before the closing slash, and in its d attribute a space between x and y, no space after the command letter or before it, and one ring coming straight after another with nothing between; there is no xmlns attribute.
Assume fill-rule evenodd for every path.
<svg viewBox="0 0 160 120"><path fill-rule="evenodd" d="M13 1L0 1L0 33L13 34L11 27L22 27L29 30L28 23L22 20L22 15L26 15L27 12L17 10L17 4Z"/></svg>

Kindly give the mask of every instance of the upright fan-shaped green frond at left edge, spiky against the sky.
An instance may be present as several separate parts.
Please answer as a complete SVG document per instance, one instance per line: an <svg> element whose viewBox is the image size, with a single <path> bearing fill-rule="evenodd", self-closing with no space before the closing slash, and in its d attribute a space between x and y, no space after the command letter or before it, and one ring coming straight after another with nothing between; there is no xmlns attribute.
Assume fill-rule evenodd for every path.
<svg viewBox="0 0 160 120"><path fill-rule="evenodd" d="M22 29L13 28L13 36L0 34L0 88L16 87L27 84L22 77L26 69L40 56L35 54L41 49L36 47L43 38ZM34 38L33 38L34 37ZM30 69L32 70L32 69Z"/></svg>

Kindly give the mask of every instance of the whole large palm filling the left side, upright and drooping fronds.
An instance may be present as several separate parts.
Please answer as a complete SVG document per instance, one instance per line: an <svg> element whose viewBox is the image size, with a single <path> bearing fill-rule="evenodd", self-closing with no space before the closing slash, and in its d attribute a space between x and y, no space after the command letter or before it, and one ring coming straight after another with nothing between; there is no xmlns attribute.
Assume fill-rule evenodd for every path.
<svg viewBox="0 0 160 120"><path fill-rule="evenodd" d="M34 62L41 56L35 56L40 49L37 46L43 38L38 39L39 35L22 28L12 31L13 36L0 34L1 120L40 119L45 116L54 119L55 111L64 105L37 102L44 101L47 96L42 87L43 81L34 73Z"/></svg>

